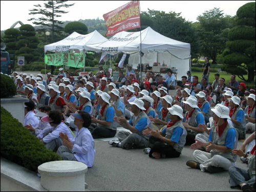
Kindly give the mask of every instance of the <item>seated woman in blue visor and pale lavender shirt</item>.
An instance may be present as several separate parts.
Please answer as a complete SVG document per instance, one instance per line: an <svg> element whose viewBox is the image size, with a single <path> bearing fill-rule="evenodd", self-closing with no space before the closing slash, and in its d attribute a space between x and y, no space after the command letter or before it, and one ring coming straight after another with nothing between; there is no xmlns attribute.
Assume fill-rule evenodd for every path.
<svg viewBox="0 0 256 192"><path fill-rule="evenodd" d="M59 133L62 144L57 150L57 154L62 160L78 161L92 167L94 163L95 148L93 137L88 130L91 124L91 116L86 112L71 113L75 118L74 124L77 126L75 139L70 140L66 133Z"/></svg>

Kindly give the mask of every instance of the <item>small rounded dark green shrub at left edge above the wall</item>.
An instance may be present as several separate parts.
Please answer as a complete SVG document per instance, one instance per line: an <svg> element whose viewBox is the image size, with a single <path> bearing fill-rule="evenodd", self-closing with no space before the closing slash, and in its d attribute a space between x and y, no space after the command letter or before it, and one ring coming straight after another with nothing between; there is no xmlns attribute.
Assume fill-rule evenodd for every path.
<svg viewBox="0 0 256 192"><path fill-rule="evenodd" d="M1 98L12 97L14 95L16 95L16 86L13 79L1 74Z"/></svg>

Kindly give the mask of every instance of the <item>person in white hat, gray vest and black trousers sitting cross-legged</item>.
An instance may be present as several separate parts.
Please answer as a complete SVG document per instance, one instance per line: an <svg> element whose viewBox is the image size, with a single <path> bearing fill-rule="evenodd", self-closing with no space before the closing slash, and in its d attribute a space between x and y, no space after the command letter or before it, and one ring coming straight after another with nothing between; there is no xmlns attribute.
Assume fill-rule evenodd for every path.
<svg viewBox="0 0 256 192"><path fill-rule="evenodd" d="M152 135L149 139L149 147L144 153L156 159L179 157L186 142L186 129L182 125L183 110L179 105L168 108L170 121L162 132L146 129L144 135Z"/></svg>

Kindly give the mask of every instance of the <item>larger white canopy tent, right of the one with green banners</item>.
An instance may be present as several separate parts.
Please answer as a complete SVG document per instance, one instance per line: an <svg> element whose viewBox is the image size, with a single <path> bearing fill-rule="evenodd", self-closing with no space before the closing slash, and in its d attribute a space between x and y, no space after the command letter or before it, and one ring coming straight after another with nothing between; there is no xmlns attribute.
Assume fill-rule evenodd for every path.
<svg viewBox="0 0 256 192"><path fill-rule="evenodd" d="M168 38L148 27L140 32L125 32L117 33L110 39L98 43L87 44L86 50L96 52L107 52L116 54L119 52L131 54L129 64L133 68L137 68L140 63L140 44L141 50L144 53L142 63L149 63L153 66L154 62L162 62L167 65L166 68L176 67L177 78L186 75L189 70L190 62L190 44Z"/></svg>

